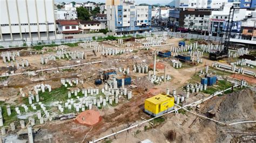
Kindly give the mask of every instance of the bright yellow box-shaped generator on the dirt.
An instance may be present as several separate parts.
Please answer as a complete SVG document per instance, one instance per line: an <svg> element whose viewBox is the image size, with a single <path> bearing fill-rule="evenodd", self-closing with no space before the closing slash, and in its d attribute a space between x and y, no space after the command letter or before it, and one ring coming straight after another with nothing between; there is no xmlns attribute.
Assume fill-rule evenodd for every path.
<svg viewBox="0 0 256 143"><path fill-rule="evenodd" d="M144 103L144 111L157 117L174 109L174 97L161 93L147 98Z"/></svg>

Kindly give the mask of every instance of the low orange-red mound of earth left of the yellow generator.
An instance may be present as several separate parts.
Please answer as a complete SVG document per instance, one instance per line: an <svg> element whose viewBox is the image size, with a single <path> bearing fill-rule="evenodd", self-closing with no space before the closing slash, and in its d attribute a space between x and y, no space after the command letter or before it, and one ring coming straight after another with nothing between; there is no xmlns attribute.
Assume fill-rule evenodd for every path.
<svg viewBox="0 0 256 143"><path fill-rule="evenodd" d="M75 119L75 122L82 125L92 126L99 123L100 120L102 120L102 117L98 111L86 110L79 113Z"/></svg>

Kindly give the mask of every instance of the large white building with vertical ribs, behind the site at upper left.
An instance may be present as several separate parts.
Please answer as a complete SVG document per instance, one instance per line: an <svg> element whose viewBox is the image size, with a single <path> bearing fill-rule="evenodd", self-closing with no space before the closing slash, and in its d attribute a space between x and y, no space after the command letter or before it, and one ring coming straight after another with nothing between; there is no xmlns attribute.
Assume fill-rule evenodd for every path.
<svg viewBox="0 0 256 143"><path fill-rule="evenodd" d="M53 0L2 0L0 40L55 39Z"/></svg>

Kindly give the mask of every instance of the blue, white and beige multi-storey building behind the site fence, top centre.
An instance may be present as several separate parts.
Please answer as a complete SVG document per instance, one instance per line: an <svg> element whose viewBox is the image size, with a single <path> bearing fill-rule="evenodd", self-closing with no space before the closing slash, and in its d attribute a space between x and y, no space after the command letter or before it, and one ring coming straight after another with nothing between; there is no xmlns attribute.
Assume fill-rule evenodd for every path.
<svg viewBox="0 0 256 143"><path fill-rule="evenodd" d="M111 1L107 5L107 25L117 34L149 32L151 28L151 6L137 6L130 1ZM109 4L109 2L107 2Z"/></svg>

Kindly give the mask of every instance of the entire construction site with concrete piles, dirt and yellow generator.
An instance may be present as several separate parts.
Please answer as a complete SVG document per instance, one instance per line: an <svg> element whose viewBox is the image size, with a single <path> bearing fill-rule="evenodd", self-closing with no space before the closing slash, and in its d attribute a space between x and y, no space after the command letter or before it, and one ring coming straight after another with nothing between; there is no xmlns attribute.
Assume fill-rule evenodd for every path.
<svg viewBox="0 0 256 143"><path fill-rule="evenodd" d="M1 141L255 142L256 51L225 46L152 35L2 50Z"/></svg>

